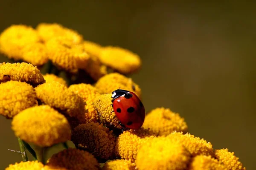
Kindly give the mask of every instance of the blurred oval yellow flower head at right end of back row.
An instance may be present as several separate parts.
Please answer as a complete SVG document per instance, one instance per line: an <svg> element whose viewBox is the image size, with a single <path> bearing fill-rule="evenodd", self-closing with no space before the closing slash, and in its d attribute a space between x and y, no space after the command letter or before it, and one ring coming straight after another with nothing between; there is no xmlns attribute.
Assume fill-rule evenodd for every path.
<svg viewBox="0 0 256 170"><path fill-rule="evenodd" d="M140 57L124 48L107 46L99 54L101 62L121 74L131 74L140 69Z"/></svg>

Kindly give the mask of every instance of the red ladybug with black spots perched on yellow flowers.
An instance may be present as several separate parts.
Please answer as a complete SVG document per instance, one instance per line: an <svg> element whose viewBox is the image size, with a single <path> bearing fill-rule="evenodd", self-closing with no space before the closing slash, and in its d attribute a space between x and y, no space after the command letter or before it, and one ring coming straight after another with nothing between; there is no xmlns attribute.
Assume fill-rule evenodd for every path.
<svg viewBox="0 0 256 170"><path fill-rule="evenodd" d="M139 129L143 125L145 108L136 94L117 89L112 92L111 98L113 111L124 129Z"/></svg>

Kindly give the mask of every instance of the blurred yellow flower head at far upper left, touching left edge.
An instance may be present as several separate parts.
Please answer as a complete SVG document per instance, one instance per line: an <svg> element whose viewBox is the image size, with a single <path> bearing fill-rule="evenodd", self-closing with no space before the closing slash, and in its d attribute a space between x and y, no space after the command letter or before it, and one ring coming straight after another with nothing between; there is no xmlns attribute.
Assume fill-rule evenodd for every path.
<svg viewBox="0 0 256 170"><path fill-rule="evenodd" d="M39 42L40 38L30 26L12 25L0 34L0 51L9 58L22 59L22 48Z"/></svg>

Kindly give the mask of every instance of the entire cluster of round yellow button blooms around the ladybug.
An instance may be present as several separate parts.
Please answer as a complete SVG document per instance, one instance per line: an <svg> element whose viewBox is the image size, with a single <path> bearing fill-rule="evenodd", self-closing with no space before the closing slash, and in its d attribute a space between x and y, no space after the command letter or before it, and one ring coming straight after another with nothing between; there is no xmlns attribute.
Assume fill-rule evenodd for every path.
<svg viewBox="0 0 256 170"><path fill-rule="evenodd" d="M46 162L37 153L37 160L6 170L245 170L233 152L189 134L184 118L169 108L149 111L138 130L121 131L111 92L126 89L140 99L142 94L125 76L141 66L131 51L85 41L56 23L10 26L0 34L0 51L22 61L0 64L0 114L12 119L15 135L36 148L69 140L76 146ZM83 70L95 83L69 84L42 74L39 68L49 61L71 75Z"/></svg>

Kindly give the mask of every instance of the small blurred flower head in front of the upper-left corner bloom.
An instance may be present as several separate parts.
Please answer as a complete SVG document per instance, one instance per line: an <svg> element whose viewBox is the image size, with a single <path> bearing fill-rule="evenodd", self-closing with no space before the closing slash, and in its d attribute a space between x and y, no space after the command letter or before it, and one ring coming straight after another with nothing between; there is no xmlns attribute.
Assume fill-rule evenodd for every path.
<svg viewBox="0 0 256 170"><path fill-rule="evenodd" d="M27 44L22 49L22 59L32 65L44 65L48 61L45 45L41 42Z"/></svg>

